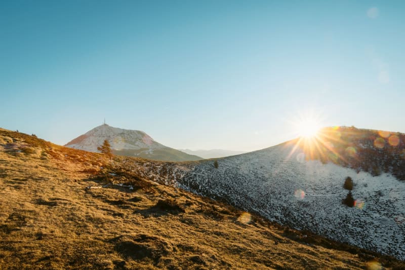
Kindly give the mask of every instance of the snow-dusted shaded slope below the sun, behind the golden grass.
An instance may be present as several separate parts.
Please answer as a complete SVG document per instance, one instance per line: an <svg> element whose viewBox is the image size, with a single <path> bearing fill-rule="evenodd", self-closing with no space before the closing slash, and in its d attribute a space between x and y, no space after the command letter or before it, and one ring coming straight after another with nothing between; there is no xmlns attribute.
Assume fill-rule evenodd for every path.
<svg viewBox="0 0 405 270"><path fill-rule="evenodd" d="M405 182L333 163L306 160L295 145L214 161L202 161L176 175L180 187L226 201L269 220L308 229L337 241L405 259ZM342 204L354 181L356 207Z"/></svg>

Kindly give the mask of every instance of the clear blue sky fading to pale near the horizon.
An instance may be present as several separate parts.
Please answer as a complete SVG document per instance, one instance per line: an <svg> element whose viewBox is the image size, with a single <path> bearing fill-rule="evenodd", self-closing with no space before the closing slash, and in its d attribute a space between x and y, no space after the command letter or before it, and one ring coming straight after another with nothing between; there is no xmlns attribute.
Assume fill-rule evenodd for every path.
<svg viewBox="0 0 405 270"><path fill-rule="evenodd" d="M0 3L0 127L102 124L255 150L325 126L405 132L404 1Z"/></svg>

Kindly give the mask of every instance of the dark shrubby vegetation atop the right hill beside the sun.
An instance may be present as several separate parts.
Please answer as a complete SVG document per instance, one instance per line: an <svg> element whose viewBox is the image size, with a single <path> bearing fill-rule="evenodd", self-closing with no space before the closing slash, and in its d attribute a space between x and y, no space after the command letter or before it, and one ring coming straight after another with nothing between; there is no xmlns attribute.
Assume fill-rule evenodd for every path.
<svg viewBox="0 0 405 270"><path fill-rule="evenodd" d="M322 129L317 137L317 148L300 142L307 159L335 163L373 176L391 173L405 180L405 134L355 127ZM295 143L296 141L294 141Z"/></svg>

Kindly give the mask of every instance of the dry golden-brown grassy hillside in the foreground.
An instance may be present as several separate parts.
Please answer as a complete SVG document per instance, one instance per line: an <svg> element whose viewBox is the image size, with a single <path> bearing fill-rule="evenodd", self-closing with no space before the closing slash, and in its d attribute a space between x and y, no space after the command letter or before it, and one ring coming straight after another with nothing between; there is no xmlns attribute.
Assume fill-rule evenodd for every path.
<svg viewBox="0 0 405 270"><path fill-rule="evenodd" d="M154 183L127 160L0 129L0 268L364 269L374 257L405 267ZM86 188L113 180L135 188Z"/></svg>

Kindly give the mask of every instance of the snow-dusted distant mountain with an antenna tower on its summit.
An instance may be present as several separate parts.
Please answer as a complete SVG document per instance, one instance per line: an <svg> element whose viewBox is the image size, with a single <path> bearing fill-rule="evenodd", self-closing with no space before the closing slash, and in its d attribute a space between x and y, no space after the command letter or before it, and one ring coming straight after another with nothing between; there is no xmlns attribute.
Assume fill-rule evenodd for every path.
<svg viewBox="0 0 405 270"><path fill-rule="evenodd" d="M160 161L195 161L203 159L158 143L143 131L120 129L107 124L98 126L78 136L66 143L65 146L99 152L97 147L105 139L111 144L112 152L119 156Z"/></svg>

